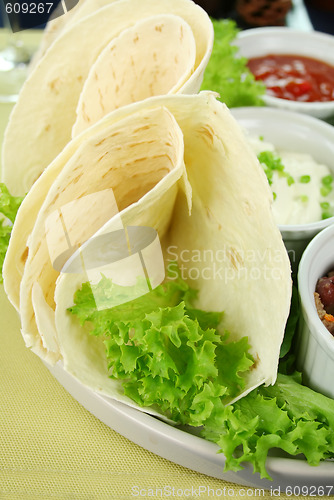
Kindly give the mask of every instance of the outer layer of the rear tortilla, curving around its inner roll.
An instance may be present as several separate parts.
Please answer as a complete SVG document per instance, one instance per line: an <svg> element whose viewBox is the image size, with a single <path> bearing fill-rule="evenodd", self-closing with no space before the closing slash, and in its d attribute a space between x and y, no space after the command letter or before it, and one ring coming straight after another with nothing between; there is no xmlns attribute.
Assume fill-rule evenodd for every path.
<svg viewBox="0 0 334 500"><path fill-rule="evenodd" d="M82 8L88 2L86 0ZM90 69L108 43L137 22L168 14L189 25L196 46L195 63L189 78L178 91L193 93L200 88L213 45L212 23L201 7L191 0L141 0L140 8L136 0L118 0L96 9L98 4L91 2L94 12L61 32L22 87L5 132L2 156L2 180L15 195L26 194L45 167L70 141L79 97ZM173 39L169 40L169 45L174 43ZM189 54L189 43L191 41L181 44L185 54ZM151 49L154 56L154 46ZM177 66L174 50L170 55L169 67L172 68ZM186 57L182 56L180 60L186 62L185 74L188 74ZM146 53L134 61L139 68L136 70L138 74L146 61L152 62ZM151 74L149 69L147 73ZM153 68L152 73L159 74L159 69ZM170 71L169 91L177 91L179 79L182 80L180 73L182 71L175 73L175 80L174 72ZM115 83L120 88L124 86L123 81ZM144 89L141 96L151 95L150 83L147 85L143 79L137 81L137 85ZM127 90L126 86L124 88ZM166 90L164 87L163 91ZM160 91L159 86L157 91Z"/></svg>

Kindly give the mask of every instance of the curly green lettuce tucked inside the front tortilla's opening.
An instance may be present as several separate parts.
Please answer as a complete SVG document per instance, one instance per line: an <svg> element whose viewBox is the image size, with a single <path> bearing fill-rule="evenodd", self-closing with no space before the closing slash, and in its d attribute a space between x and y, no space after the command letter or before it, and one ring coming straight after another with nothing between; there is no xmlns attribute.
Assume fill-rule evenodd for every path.
<svg viewBox="0 0 334 500"><path fill-rule="evenodd" d="M180 277L150 293L106 310L103 297L124 294L107 278L84 284L70 312L91 324L106 347L110 377L140 406L158 407L177 423L200 426L245 387L253 364L247 339L228 342L218 332L223 314L192 307L197 292Z"/></svg>

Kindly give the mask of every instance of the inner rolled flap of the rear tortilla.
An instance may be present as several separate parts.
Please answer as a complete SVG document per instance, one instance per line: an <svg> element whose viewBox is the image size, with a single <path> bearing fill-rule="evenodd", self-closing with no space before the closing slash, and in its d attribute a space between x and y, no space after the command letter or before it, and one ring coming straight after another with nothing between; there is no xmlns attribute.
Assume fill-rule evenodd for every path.
<svg viewBox="0 0 334 500"><path fill-rule="evenodd" d="M195 56L193 33L178 16L157 15L124 30L104 48L87 76L72 137L116 108L182 91ZM143 57L145 63L135 64Z"/></svg>

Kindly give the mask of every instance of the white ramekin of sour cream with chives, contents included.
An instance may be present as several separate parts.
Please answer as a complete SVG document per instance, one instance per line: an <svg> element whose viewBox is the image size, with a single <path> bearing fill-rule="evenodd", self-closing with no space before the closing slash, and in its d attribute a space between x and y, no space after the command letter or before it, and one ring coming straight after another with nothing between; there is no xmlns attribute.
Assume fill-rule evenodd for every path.
<svg viewBox="0 0 334 500"><path fill-rule="evenodd" d="M267 175L273 216L296 271L311 239L334 224L334 127L278 108L231 111Z"/></svg>

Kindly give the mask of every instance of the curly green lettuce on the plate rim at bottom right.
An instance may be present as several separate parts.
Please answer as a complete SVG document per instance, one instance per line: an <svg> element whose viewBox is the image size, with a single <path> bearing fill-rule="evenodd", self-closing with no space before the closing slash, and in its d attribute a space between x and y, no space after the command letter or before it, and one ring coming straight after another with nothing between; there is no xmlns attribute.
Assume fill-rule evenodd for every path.
<svg viewBox="0 0 334 500"><path fill-rule="evenodd" d="M273 448L303 454L312 466L334 457L334 401L301 385L299 373L278 374L273 386L255 389L226 406L219 421L207 421L202 435L219 445L225 470L250 462L270 479L266 459Z"/></svg>

